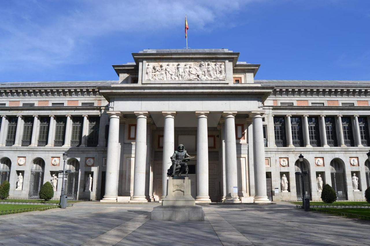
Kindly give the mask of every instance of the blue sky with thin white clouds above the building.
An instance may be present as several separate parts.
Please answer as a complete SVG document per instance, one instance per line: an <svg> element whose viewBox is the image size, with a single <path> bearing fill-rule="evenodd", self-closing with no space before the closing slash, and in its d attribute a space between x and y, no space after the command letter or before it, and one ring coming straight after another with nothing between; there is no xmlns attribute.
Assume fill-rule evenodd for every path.
<svg viewBox="0 0 370 246"><path fill-rule="evenodd" d="M0 81L118 79L142 49L228 48L256 79L370 80L367 0L0 1Z"/></svg>

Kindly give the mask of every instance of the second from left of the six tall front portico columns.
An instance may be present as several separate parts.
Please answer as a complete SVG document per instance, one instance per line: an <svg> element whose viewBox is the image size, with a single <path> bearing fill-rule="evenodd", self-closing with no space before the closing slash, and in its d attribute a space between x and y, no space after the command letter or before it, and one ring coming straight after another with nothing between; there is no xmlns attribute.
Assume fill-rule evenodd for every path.
<svg viewBox="0 0 370 246"><path fill-rule="evenodd" d="M130 202L147 202L145 197L145 171L147 167L147 118L148 112L134 112L136 120L134 194Z"/></svg>

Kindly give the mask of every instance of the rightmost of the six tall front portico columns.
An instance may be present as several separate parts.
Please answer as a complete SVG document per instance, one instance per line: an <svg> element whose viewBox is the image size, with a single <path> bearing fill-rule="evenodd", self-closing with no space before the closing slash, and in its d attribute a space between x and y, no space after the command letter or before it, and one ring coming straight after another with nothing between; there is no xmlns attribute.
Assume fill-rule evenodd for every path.
<svg viewBox="0 0 370 246"><path fill-rule="evenodd" d="M266 189L265 144L263 144L262 115L265 112L251 112L253 128L253 162L255 168L255 198L254 202L270 202Z"/></svg>

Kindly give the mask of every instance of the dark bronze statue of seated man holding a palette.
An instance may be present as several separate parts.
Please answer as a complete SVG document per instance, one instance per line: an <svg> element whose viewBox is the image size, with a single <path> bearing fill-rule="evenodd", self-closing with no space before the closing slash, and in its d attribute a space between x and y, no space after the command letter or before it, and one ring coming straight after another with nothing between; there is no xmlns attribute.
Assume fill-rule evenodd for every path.
<svg viewBox="0 0 370 246"><path fill-rule="evenodd" d="M171 161L172 165L171 167L167 170L167 176L168 177L174 177L176 176L181 176L183 172L185 172L185 175L188 176L188 161L189 158L188 153L186 153L184 145L180 144L177 147L177 150L175 150L174 154L171 156ZM187 159L187 160L184 160Z"/></svg>

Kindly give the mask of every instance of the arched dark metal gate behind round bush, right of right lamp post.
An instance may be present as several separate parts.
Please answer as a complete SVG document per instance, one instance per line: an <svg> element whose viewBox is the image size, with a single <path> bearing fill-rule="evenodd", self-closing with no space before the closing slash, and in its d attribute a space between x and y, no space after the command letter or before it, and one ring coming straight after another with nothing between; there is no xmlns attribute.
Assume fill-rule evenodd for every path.
<svg viewBox="0 0 370 246"><path fill-rule="evenodd" d="M343 165L336 160L332 160L330 163L330 175L332 177L332 187L337 194L337 200L347 200L346 175Z"/></svg>

